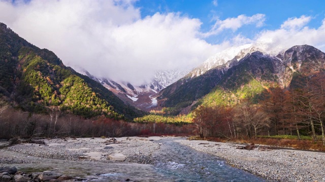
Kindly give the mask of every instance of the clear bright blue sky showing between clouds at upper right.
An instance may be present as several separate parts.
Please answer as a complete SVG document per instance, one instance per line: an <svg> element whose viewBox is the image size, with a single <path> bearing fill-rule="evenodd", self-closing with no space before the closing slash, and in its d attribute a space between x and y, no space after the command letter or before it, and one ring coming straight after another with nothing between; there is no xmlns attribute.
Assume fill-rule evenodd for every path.
<svg viewBox="0 0 325 182"><path fill-rule="evenodd" d="M201 30L203 32L211 29L216 17L223 20L242 14L247 16L257 13L265 14L264 26L243 26L236 31L248 38L253 38L257 32L263 29L278 29L290 17L311 16L312 19L308 24L310 28L319 27L325 17L325 2L321 0L140 0L135 3L135 6L140 8L142 18L152 16L157 12L161 14L178 12L181 16L198 18L202 22ZM220 43L227 34L234 34L234 32L225 31L219 36L209 37L206 40L210 43Z"/></svg>

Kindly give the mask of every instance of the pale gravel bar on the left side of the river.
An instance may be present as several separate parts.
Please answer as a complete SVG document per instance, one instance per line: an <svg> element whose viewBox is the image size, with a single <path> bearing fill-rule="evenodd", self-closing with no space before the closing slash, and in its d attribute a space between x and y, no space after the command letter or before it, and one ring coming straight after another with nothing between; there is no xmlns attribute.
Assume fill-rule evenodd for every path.
<svg viewBox="0 0 325 182"><path fill-rule="evenodd" d="M149 164L152 152L159 148L159 144L149 141L148 138L67 138L43 139L45 145L18 144L8 147L7 150L27 154L30 156L60 160L93 160L106 163L134 162ZM124 160L110 160L109 155L120 154ZM9 163L14 159L0 155L0 163ZM15 159L10 163L32 163L32 161Z"/></svg>

